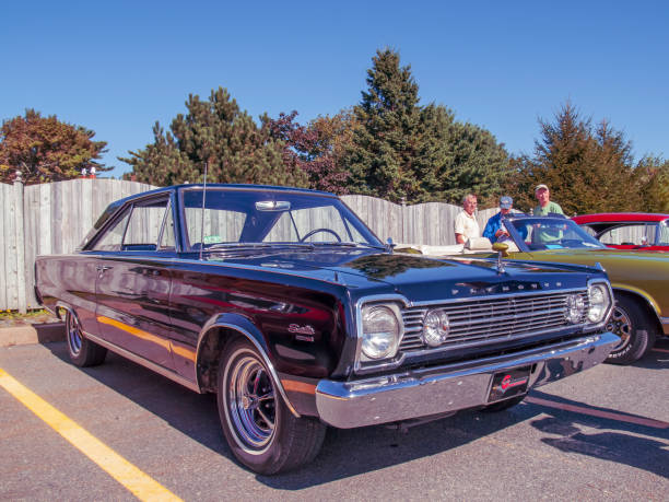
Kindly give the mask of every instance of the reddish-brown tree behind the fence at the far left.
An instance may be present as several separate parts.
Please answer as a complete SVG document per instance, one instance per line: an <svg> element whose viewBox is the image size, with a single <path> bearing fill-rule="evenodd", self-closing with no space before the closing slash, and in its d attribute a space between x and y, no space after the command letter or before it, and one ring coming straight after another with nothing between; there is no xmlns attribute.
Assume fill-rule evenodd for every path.
<svg viewBox="0 0 669 502"><path fill-rule="evenodd" d="M81 126L61 122L55 115L43 117L26 109L25 116L2 122L0 182L11 183L16 171L27 185L75 178L91 167L109 171L111 167L97 162L107 143L93 141L94 136Z"/></svg>

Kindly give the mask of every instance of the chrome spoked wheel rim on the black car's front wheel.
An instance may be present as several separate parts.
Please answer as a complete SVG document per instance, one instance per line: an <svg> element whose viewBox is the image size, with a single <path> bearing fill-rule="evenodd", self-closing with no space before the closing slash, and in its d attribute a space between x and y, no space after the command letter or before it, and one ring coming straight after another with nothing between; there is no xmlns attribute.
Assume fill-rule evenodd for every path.
<svg viewBox="0 0 669 502"><path fill-rule="evenodd" d="M257 359L244 357L235 362L228 406L234 431L246 448L257 453L271 442L277 420L274 386Z"/></svg>

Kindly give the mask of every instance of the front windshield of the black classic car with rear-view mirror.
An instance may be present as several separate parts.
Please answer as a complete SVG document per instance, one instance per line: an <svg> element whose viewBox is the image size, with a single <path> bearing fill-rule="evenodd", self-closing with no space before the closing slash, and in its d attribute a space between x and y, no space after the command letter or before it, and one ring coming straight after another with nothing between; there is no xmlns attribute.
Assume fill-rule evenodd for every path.
<svg viewBox="0 0 669 502"><path fill-rule="evenodd" d="M190 250L275 244L383 246L336 197L212 187L203 211L201 188L184 190L181 201Z"/></svg>

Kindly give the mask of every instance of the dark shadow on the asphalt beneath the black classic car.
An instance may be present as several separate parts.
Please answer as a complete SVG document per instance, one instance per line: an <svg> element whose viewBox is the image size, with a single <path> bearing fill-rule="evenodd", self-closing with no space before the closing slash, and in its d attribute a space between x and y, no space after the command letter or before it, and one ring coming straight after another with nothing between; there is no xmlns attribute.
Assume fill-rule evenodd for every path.
<svg viewBox="0 0 669 502"><path fill-rule="evenodd" d="M45 347L70 363L64 342ZM213 395L193 393L111 352L104 364L80 371L236 463L223 437ZM457 448L523 420L526 417L515 412L496 413L492 419L488 413L465 411L406 431L386 425L329 428L320 454L307 467L280 476L256 475L256 478L277 489L300 490Z"/></svg>

